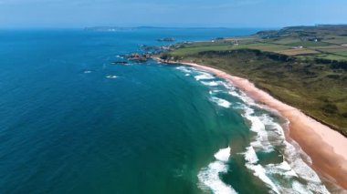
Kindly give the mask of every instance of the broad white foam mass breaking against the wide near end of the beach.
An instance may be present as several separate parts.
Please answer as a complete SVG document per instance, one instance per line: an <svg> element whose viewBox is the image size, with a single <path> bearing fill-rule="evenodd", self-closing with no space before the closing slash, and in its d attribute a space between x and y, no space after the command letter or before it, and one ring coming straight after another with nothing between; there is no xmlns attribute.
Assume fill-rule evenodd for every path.
<svg viewBox="0 0 347 194"><path fill-rule="evenodd" d="M238 94L237 94L238 95ZM245 99L245 98L244 98ZM253 102L251 100L245 100L246 103ZM250 121L250 130L257 133L256 138L250 143L250 147L247 148L245 153L245 159L247 160L246 167L254 171L254 175L265 182L274 192L299 192L302 193L329 193L325 186L321 183L321 179L316 172L311 169L305 161L301 158L301 150L295 148L292 144L286 140L283 128L276 123L272 117L268 114L262 114L260 116L255 115L255 110L247 105L243 106L245 111L244 117ZM285 161L279 164L268 164L265 167L260 164L257 165L257 155L255 148L261 151L271 151L274 146L283 147L283 155ZM269 177L272 175L284 176L286 179L300 178L305 179L306 183L301 184L297 181L291 183L291 188L288 189L285 186L276 186ZM288 181L290 184L290 181Z"/></svg>

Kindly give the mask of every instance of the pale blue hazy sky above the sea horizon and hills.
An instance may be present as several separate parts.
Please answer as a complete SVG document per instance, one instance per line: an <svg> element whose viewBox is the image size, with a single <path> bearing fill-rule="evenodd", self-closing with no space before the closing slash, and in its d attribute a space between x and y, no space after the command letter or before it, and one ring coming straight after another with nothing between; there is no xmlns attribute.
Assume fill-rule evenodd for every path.
<svg viewBox="0 0 347 194"><path fill-rule="evenodd" d="M0 0L0 28L346 23L347 0Z"/></svg>

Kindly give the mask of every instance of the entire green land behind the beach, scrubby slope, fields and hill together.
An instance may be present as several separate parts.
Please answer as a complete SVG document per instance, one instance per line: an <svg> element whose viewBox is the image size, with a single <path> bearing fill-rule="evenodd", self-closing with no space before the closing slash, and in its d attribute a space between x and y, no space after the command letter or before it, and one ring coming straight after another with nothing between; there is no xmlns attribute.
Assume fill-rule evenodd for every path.
<svg viewBox="0 0 347 194"><path fill-rule="evenodd" d="M347 26L289 27L277 34L264 31L249 37L178 44L161 57L246 77L347 136L347 46L336 45L347 36L337 33L346 35Z"/></svg>

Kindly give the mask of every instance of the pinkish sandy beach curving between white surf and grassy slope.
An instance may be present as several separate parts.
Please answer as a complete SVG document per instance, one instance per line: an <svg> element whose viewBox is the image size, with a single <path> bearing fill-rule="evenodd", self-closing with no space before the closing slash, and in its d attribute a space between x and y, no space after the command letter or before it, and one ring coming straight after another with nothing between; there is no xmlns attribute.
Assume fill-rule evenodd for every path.
<svg viewBox="0 0 347 194"><path fill-rule="evenodd" d="M267 92L255 87L246 78L234 77L210 66L188 62L167 62L154 57L153 59L167 64L194 66L210 72L216 77L231 82L258 103L277 110L281 117L289 120L289 138L294 139L300 148L310 156L311 167L325 179L331 180L342 189L347 189L347 138L343 137L341 133L305 115L300 109L291 107L270 96Z"/></svg>

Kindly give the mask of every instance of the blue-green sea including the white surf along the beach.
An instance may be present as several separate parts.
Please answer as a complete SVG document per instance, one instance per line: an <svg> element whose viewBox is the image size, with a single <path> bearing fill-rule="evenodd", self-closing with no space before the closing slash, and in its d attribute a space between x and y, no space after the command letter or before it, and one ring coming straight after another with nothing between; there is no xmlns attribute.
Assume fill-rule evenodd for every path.
<svg viewBox="0 0 347 194"><path fill-rule="evenodd" d="M166 36L256 31L0 31L0 193L327 193L286 121L226 81L111 64Z"/></svg>

